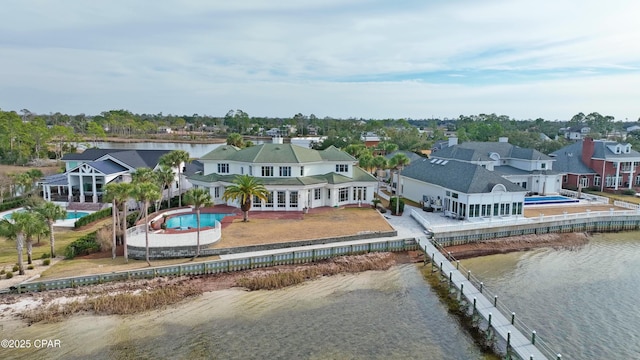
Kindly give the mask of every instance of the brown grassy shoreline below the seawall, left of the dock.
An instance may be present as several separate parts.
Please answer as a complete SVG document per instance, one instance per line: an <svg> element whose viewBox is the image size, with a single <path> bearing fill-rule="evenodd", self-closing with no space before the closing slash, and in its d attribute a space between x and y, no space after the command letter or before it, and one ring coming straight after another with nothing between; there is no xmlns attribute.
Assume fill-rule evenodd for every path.
<svg viewBox="0 0 640 360"><path fill-rule="evenodd" d="M296 273L308 275L311 269L311 274L314 274L314 276L303 278L302 282L306 282L324 276L335 276L367 270L387 270L395 265L419 261L421 261L421 259L417 251L405 253L368 253L364 255L337 257L316 263L279 265L269 268L205 276L158 277L150 280L121 281L81 288L26 294L6 294L0 296L0 320L2 320L2 322L16 321L31 325L38 322L64 320L68 315L124 315L142 313L178 304L189 298L208 292L233 288L252 291L241 285L243 281L246 283L247 279L260 280L260 278L267 278L271 275L284 275L288 277L287 275ZM345 264L347 265L346 267L342 266ZM356 270L344 270L349 268ZM277 289L281 287L272 288ZM147 307L142 307L132 312L120 312L121 304L114 304L113 309L96 309L95 307L87 309L87 307L92 307L96 302L115 303L122 300L123 297L128 298L131 303L146 302L147 299L144 298L145 295L156 293L162 295L162 291L165 289L169 289L172 295L171 298L166 299L165 302L154 302ZM142 296L139 296L138 299L135 297L138 295Z"/></svg>

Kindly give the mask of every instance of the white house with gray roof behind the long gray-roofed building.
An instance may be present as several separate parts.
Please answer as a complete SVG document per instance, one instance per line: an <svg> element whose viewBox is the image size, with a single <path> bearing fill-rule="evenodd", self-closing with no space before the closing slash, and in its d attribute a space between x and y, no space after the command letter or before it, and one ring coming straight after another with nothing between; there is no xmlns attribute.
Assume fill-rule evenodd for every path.
<svg viewBox="0 0 640 360"><path fill-rule="evenodd" d="M457 144L457 138L449 138L449 145L431 157L479 165L531 193L557 194L562 189L560 181L565 174L553 169L553 158L535 149L509 144L506 137L498 142L462 144Z"/></svg>

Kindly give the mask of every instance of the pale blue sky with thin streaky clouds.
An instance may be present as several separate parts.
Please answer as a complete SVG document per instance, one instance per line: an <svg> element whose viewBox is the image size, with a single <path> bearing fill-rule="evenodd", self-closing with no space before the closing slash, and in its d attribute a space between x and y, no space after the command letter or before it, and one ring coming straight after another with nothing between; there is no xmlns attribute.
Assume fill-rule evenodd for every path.
<svg viewBox="0 0 640 360"><path fill-rule="evenodd" d="M640 117L637 0L3 0L0 109Z"/></svg>

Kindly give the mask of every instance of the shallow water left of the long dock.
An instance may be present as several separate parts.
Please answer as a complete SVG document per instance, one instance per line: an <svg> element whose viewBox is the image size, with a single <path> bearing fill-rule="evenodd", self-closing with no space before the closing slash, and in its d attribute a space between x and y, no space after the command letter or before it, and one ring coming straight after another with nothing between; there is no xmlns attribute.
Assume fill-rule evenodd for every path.
<svg viewBox="0 0 640 360"><path fill-rule="evenodd" d="M62 346L0 349L2 359L482 359L413 264L277 291L211 292L143 315L3 326L11 338Z"/></svg>

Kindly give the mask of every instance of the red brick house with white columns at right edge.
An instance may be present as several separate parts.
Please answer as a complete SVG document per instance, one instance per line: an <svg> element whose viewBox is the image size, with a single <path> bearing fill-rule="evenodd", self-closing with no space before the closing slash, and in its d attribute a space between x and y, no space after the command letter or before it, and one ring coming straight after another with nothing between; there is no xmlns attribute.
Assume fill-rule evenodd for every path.
<svg viewBox="0 0 640 360"><path fill-rule="evenodd" d="M606 191L640 187L640 153L632 150L631 144L587 137L551 156L559 170L566 173L564 188Z"/></svg>

